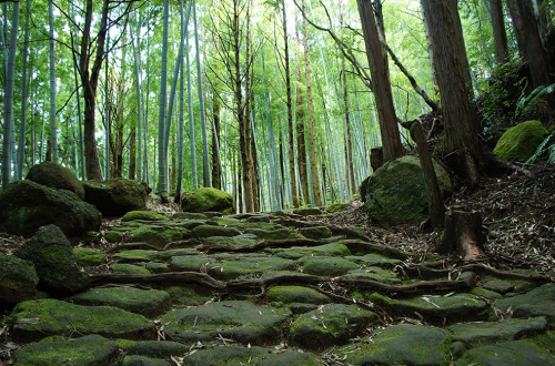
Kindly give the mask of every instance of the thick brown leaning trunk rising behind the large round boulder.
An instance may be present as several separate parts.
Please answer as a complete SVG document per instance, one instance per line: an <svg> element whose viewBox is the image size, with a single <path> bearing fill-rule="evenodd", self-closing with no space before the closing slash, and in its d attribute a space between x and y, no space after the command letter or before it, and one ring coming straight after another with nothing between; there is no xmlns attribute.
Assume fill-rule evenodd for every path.
<svg viewBox="0 0 555 366"><path fill-rule="evenodd" d="M384 151L384 162L403 155L403 145L398 134L397 118L393 105L391 81L383 62L382 45L377 33L374 12L370 0L357 0L361 16L366 55L369 58L372 83L376 93L376 105L380 120L380 133Z"/></svg>

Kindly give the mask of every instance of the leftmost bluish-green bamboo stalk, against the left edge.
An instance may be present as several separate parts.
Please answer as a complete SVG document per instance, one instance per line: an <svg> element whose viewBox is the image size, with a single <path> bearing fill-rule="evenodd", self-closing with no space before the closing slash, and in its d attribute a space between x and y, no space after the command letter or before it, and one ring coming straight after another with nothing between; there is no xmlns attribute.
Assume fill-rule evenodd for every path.
<svg viewBox="0 0 555 366"><path fill-rule="evenodd" d="M12 134L13 120L13 83L16 74L16 52L18 50L18 31L19 31L19 2L13 3L13 13L11 21L10 35L10 52L6 70L6 96L4 96L4 124L3 124L3 145L2 145L2 187L8 187L11 176L11 146L10 140Z"/></svg>

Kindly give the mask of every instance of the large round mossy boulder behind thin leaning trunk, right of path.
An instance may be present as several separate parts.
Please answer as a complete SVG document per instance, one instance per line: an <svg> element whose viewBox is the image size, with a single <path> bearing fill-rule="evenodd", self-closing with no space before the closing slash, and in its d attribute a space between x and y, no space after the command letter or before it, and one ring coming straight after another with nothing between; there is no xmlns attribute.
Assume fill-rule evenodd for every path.
<svg viewBox="0 0 555 366"><path fill-rule="evenodd" d="M434 170L443 197L451 190L451 179L438 163ZM367 182L364 205L370 217L383 226L417 221L427 212L424 176L420 159L404 155L390 160Z"/></svg>

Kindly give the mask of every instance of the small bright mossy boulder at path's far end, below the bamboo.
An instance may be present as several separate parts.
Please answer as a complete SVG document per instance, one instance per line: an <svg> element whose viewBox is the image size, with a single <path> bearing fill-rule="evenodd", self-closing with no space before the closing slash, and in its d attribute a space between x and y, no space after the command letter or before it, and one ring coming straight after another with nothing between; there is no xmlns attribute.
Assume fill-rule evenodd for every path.
<svg viewBox="0 0 555 366"><path fill-rule="evenodd" d="M233 212L233 197L228 192L202 187L186 193L181 207L184 212L221 212L229 215Z"/></svg>

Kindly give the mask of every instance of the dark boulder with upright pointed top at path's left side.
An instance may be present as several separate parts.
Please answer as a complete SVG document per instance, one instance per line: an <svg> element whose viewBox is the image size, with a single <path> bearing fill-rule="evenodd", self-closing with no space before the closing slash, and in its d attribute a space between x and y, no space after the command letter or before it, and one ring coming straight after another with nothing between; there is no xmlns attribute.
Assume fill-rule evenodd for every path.
<svg viewBox="0 0 555 366"><path fill-rule="evenodd" d="M89 286L89 275L77 265L70 242L56 225L40 227L13 255L34 264L46 289L78 293Z"/></svg>

